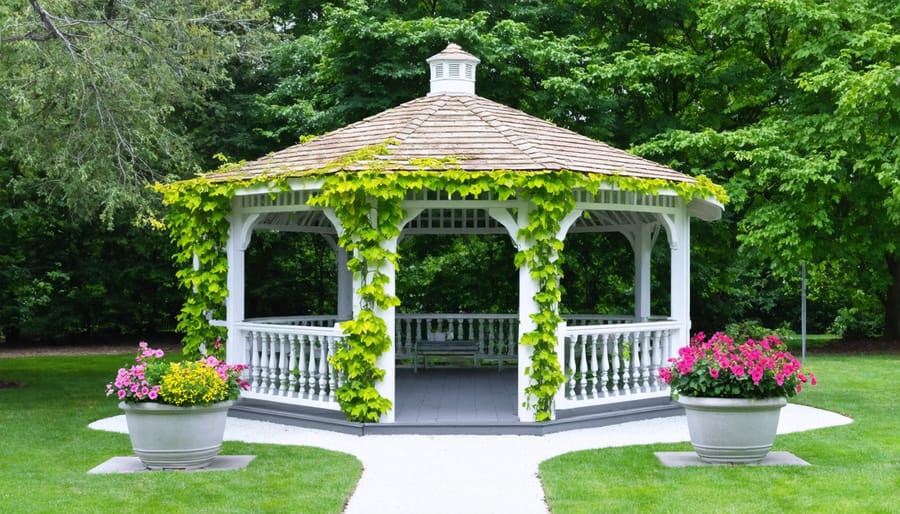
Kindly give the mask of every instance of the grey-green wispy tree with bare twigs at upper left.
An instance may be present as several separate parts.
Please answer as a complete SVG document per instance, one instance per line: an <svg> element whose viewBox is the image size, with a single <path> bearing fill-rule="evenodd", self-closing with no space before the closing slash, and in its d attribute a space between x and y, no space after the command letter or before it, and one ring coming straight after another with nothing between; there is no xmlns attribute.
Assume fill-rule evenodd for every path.
<svg viewBox="0 0 900 514"><path fill-rule="evenodd" d="M257 51L252 2L0 2L0 148L15 183L112 220L145 185L199 171L176 114Z"/></svg>

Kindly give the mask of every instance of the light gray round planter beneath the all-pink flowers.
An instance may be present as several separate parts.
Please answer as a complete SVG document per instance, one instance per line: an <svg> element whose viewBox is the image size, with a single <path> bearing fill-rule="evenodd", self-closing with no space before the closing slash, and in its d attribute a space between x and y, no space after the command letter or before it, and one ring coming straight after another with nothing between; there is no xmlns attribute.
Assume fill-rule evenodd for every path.
<svg viewBox="0 0 900 514"><path fill-rule="evenodd" d="M704 462L754 464L762 461L778 430L783 397L678 398L687 414L694 451Z"/></svg>

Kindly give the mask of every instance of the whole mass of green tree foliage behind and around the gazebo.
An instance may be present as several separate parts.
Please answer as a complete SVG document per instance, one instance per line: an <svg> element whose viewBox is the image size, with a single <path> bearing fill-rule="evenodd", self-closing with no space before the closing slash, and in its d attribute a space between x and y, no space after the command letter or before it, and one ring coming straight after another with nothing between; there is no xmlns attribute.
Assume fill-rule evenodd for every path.
<svg viewBox="0 0 900 514"><path fill-rule="evenodd" d="M111 219L214 154L256 158L424 95L424 60L454 41L481 58L479 95L726 187L725 218L693 229L695 327L795 324L806 263L814 330L897 338L895 4L0 0L0 202L20 228L41 216L29 202ZM415 239L408 255L424 260L402 265L446 280L453 259ZM321 253L259 251L289 270L290 245ZM20 246L0 259L24 262ZM566 262L573 304L627 298L627 281L576 278L621 267L627 251L608 248ZM16 273L8 284L37 294L44 272Z"/></svg>

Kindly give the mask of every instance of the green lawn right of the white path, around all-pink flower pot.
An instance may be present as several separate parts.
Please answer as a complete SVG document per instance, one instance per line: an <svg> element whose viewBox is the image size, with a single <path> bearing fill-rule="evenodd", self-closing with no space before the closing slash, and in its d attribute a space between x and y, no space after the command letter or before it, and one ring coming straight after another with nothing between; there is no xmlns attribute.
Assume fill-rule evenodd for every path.
<svg viewBox="0 0 900 514"><path fill-rule="evenodd" d="M598 512L900 512L897 355L807 356L819 385L792 401L850 425L779 435L810 467L663 467L653 452L688 443L569 453L540 466L553 514Z"/></svg>

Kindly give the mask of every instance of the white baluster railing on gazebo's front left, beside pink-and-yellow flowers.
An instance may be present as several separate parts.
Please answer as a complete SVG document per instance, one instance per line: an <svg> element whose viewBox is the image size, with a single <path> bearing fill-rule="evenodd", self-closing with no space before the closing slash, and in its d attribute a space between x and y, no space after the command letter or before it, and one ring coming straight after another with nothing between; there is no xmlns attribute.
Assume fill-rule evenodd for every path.
<svg viewBox="0 0 900 514"><path fill-rule="evenodd" d="M329 362L344 334L338 328L238 323L249 368L248 398L339 409L341 375Z"/></svg>

